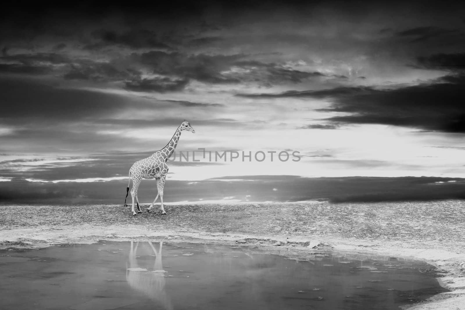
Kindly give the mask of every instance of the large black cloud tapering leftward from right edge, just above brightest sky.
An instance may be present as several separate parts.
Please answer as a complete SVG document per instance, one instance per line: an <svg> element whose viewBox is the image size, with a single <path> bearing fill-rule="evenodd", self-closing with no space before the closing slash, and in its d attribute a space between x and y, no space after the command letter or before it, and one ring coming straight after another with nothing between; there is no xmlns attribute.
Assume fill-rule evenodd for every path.
<svg viewBox="0 0 465 310"><path fill-rule="evenodd" d="M461 81L452 77L451 81ZM321 91L288 91L276 94L240 94L251 98L317 98L332 106L324 112L344 112L326 120L336 123L406 126L439 132L465 132L463 83L420 84L392 89L337 87Z"/></svg>

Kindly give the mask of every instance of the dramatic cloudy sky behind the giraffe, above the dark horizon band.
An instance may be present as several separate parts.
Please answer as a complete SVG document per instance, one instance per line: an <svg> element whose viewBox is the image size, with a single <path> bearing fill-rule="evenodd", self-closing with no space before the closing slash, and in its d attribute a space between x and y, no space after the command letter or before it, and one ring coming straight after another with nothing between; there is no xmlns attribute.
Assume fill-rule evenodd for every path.
<svg viewBox="0 0 465 310"><path fill-rule="evenodd" d="M465 178L464 16L459 1L10 3L0 198L125 189L184 119L195 133L166 183L178 191L234 176Z"/></svg>

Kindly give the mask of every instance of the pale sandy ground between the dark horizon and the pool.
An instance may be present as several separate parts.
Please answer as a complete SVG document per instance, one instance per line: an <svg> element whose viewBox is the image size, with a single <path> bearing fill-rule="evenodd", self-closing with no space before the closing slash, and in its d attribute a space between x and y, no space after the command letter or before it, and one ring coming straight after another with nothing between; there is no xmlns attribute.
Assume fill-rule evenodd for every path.
<svg viewBox="0 0 465 310"><path fill-rule="evenodd" d="M145 206L146 207L146 206ZM465 309L465 202L166 204L132 216L121 205L1 205L0 248L98 240L176 240L259 246L299 255L410 257L437 266L450 292L404 309Z"/></svg>

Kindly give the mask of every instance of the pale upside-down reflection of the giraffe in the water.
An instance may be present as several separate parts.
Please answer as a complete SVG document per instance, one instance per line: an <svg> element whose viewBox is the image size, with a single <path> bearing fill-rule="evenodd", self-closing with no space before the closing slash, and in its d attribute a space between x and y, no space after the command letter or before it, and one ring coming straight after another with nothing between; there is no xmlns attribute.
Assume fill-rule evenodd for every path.
<svg viewBox="0 0 465 310"><path fill-rule="evenodd" d="M129 269L126 270L126 281L136 291L143 293L151 298L153 301L160 303L164 309L172 310L173 305L171 298L166 294L165 284L166 278L164 275L163 264L161 262L161 249L163 242L160 242L159 251L155 250L152 242L148 242L155 255L155 262L153 263L153 270L148 271L148 265L139 266L136 257L137 247L139 242L131 241L131 251L129 251ZM144 263L147 261L145 260ZM137 268L140 268L137 270Z"/></svg>

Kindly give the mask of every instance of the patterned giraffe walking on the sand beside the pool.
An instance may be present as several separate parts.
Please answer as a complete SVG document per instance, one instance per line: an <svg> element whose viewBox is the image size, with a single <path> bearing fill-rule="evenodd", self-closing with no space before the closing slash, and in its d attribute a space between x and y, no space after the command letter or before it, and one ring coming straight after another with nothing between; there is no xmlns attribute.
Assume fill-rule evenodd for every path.
<svg viewBox="0 0 465 310"><path fill-rule="evenodd" d="M160 196L161 214L166 214L165 209L163 208L163 189L165 187L166 174L168 173L168 165L166 165L166 161L173 154L176 145L178 145L178 140L181 136L181 132L184 130L195 133L195 130L191 127L191 124L189 124L189 122L185 119L181 123L181 125L179 125L178 129L176 129L173 138L171 138L170 142L168 142L168 144L164 148L153 153L147 158L136 161L131 167L131 169L129 169L129 180L126 188L126 198L127 193L129 191L129 184L131 183L131 178L133 178L133 188L131 189L131 196L133 198L133 208L131 211L133 212L133 215L136 215L136 212L134 211L134 198L136 199L137 203L137 213L142 212L142 210L140 210L139 198L137 198L137 189L139 188L140 182L143 178L155 178L157 181L157 197L155 197L150 207L146 209L147 212L150 212L150 210L153 208L153 204L155 204L155 202L158 199L158 196ZM127 206L126 199L124 200L124 206Z"/></svg>

